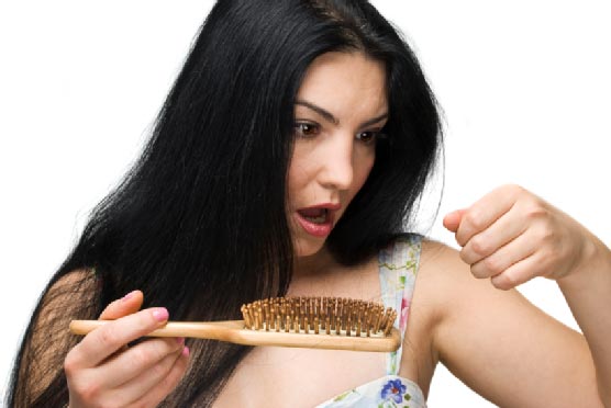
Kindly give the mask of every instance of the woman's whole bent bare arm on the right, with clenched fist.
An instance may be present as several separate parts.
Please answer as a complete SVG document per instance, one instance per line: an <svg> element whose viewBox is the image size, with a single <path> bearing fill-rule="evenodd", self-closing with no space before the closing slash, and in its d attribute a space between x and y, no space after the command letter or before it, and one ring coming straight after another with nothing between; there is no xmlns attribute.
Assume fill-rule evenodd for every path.
<svg viewBox="0 0 611 408"><path fill-rule="evenodd" d="M459 260L447 249L438 257L456 271L444 274L445 287L460 293L437 301L444 303L434 347L449 370L503 407L611 406L611 317L601 311L610 306L609 248L516 185L448 214L444 225L463 247ZM585 336L513 290L536 276L556 281ZM486 375L476 367L487 367Z"/></svg>

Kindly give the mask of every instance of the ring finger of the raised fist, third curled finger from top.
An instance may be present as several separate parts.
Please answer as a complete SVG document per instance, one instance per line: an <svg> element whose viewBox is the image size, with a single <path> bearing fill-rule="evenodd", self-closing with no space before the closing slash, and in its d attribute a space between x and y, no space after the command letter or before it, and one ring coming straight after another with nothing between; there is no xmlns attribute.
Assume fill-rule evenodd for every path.
<svg viewBox="0 0 611 408"><path fill-rule="evenodd" d="M496 276L507 271L511 265L531 257L536 251L536 248L532 245L532 233L525 231L492 254L471 264L474 276L478 279Z"/></svg>

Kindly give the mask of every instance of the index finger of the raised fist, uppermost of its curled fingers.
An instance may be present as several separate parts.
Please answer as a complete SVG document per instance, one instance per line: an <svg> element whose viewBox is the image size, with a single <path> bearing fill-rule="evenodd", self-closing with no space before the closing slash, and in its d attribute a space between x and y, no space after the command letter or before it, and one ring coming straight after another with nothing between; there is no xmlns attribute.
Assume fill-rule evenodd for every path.
<svg viewBox="0 0 611 408"><path fill-rule="evenodd" d="M456 230L456 241L464 247L476 234L488 228L515 203L518 189L503 186L493 190L467 208Z"/></svg>

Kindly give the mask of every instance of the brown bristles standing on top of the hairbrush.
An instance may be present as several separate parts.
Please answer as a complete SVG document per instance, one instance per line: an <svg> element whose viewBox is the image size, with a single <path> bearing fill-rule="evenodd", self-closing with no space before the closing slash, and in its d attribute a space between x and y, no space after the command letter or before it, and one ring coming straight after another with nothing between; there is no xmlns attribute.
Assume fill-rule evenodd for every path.
<svg viewBox="0 0 611 408"><path fill-rule="evenodd" d="M243 305L251 330L386 337L397 311L374 302L341 297L273 297Z"/></svg>

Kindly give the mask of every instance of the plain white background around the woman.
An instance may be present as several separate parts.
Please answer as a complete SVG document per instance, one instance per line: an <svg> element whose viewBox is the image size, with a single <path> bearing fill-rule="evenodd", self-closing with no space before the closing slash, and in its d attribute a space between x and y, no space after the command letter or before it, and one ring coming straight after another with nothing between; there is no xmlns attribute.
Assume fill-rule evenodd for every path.
<svg viewBox="0 0 611 408"><path fill-rule="evenodd" d="M414 46L445 110L441 214L519 183L611 243L607 2L374 4ZM0 390L38 293L137 156L210 5L0 3ZM433 214L427 233L454 245ZM553 282L521 291L576 327ZM442 366L429 404L491 406Z"/></svg>

